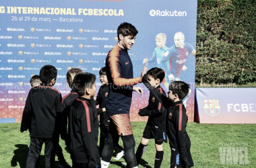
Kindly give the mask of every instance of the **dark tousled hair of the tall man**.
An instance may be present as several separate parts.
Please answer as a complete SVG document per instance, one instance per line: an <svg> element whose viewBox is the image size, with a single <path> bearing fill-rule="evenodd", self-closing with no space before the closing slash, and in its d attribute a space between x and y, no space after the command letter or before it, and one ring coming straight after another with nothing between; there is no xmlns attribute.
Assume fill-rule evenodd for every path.
<svg viewBox="0 0 256 168"><path fill-rule="evenodd" d="M127 22L123 22L119 27L117 28L117 38L119 39L119 34L122 34L123 36L136 36L138 33L137 29Z"/></svg>

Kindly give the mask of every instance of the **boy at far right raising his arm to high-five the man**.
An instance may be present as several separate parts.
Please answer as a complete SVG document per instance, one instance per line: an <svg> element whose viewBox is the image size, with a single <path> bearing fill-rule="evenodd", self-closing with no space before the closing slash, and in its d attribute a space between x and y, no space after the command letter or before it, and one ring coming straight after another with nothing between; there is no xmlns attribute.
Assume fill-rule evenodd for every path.
<svg viewBox="0 0 256 168"><path fill-rule="evenodd" d="M162 103L168 108L166 116L166 129L169 139L171 157L170 167L193 167L193 159L190 153L191 141L186 131L187 114L182 100L189 93L189 85L183 81L174 81L169 85L168 97L160 94L147 81L146 75L143 76L143 83Z"/></svg>

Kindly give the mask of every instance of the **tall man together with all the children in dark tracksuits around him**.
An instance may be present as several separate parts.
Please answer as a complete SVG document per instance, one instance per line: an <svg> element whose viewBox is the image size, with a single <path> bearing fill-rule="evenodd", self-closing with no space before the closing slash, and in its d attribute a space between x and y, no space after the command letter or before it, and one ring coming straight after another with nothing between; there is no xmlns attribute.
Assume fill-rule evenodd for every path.
<svg viewBox="0 0 256 168"><path fill-rule="evenodd" d="M65 140L74 168L108 167L114 150L118 153L115 159L125 156L127 167L136 168L151 138L156 144L154 167L160 167L164 157L162 143L167 142L167 137L171 149L170 167L193 167L186 131L188 118L182 101L189 93L189 85L183 81L170 83L166 97L160 87L164 71L153 68L146 72L148 64L141 77L133 78L133 65L127 50L133 46L137 33L136 28L126 22L119 26L119 42L110 50L106 67L99 72L102 86L96 100L96 75L92 73L75 68L69 70L67 83L71 92L65 97L53 87L57 69L52 65L45 65L39 76L32 77L32 89L26 99L20 129L30 132L26 167L39 167L42 144L45 144L45 167L55 167L55 155L59 167L70 167L59 146L59 135ZM148 106L139 110L139 116L148 116L148 122L135 153L129 110L132 91L143 93L141 87L134 86L141 82L150 90L150 97ZM119 137L124 148L119 146Z"/></svg>

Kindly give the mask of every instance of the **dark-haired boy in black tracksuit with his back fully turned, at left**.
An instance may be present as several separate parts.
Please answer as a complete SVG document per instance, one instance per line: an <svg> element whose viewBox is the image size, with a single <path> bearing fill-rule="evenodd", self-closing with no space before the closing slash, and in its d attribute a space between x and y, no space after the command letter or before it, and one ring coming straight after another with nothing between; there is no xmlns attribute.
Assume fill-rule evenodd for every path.
<svg viewBox="0 0 256 168"><path fill-rule="evenodd" d="M59 140L58 119L61 113L61 93L53 88L57 69L45 65L40 69L40 85L30 89L24 112L31 116L30 151L26 167L35 167L45 144L45 167L55 167L55 152Z"/></svg>

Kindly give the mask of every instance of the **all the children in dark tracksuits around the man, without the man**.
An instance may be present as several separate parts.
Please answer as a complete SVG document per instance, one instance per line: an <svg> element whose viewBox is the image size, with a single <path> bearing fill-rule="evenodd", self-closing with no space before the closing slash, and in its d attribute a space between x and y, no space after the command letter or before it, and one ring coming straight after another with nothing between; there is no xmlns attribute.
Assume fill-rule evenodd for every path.
<svg viewBox="0 0 256 168"><path fill-rule="evenodd" d="M94 101L96 76L92 73L84 73L81 69L73 68L67 72L67 83L71 92L63 98L53 87L57 78L55 67L46 65L40 70L40 76L34 75L30 79L32 89L28 93L21 125L21 132L30 131L30 149L26 167L39 166L43 143L45 167L55 166L55 155L59 159L59 167L70 167L59 146L59 134L70 150L73 167L100 167L100 157L110 120L105 109L109 91L105 67L100 69L99 75L102 86L98 90L96 101ZM148 106L139 110L139 116L148 116L148 122L137 147L136 160L139 164L148 141L154 138L155 167L160 167L164 156L162 143L167 142L168 136L172 146L171 167L181 165L179 157L181 161L189 161L185 165L191 165L193 161L189 152L190 140L186 132L187 115L182 103L189 85L181 81L170 83L166 97L164 89L160 87L163 79L164 71L159 68L150 69L147 75L143 76L142 82L150 90L150 97ZM99 105L98 109L96 109L97 105ZM98 115L100 116L99 149ZM115 146L115 151L118 153L115 159L121 159L125 155L123 147L119 144Z"/></svg>

